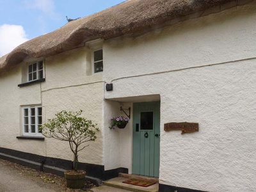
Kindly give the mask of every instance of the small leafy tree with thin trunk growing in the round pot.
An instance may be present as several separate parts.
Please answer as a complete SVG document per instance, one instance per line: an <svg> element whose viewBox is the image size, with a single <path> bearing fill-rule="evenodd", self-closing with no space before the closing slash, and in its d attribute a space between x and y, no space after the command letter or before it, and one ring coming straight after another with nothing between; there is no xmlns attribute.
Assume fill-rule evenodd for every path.
<svg viewBox="0 0 256 192"><path fill-rule="evenodd" d="M79 115L83 111L60 111L55 118L49 119L40 129L46 138L68 141L74 154L73 169L77 172L78 152L89 145L80 147L87 141L95 141L99 131L97 124Z"/></svg>

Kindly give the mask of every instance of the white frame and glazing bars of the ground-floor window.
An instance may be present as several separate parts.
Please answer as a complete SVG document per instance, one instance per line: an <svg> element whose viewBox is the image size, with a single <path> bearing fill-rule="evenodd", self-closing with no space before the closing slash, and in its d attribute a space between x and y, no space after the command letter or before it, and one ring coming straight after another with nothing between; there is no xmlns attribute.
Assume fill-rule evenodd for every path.
<svg viewBox="0 0 256 192"><path fill-rule="evenodd" d="M41 115L38 115L38 109L41 108ZM28 109L28 116L25 115L25 109ZM31 115L32 109L35 109L35 124L32 124ZM42 121L42 106L23 106L22 107L22 134L23 136L43 136L41 132L38 130L38 117L41 117ZM25 118L28 118L28 124L25 124ZM35 125L35 132L31 132L31 126ZM28 126L28 132L25 131L26 126Z"/></svg>

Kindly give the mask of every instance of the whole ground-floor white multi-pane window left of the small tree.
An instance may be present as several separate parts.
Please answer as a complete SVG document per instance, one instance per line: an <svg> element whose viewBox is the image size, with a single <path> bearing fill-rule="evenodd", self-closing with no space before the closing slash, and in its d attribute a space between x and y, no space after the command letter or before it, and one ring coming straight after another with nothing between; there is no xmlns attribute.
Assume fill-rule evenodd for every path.
<svg viewBox="0 0 256 192"><path fill-rule="evenodd" d="M38 127L42 125L42 106L25 106L22 108L23 135L42 136Z"/></svg>

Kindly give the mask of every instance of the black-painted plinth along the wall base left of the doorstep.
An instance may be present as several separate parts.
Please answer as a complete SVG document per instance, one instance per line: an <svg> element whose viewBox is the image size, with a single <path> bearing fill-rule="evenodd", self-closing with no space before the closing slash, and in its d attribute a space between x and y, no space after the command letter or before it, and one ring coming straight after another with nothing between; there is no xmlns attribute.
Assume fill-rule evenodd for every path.
<svg viewBox="0 0 256 192"><path fill-rule="evenodd" d="M61 177L64 176L66 170L72 169L72 161L38 156L8 148L0 147L0 158L34 168L35 170L54 173ZM105 171L104 166L99 164L79 163L78 168L86 172L86 177L88 177L88 179L95 178L96 180L94 182L98 183L100 180L108 180L113 177L118 177L118 173L128 173L127 168L116 168L114 170Z"/></svg>

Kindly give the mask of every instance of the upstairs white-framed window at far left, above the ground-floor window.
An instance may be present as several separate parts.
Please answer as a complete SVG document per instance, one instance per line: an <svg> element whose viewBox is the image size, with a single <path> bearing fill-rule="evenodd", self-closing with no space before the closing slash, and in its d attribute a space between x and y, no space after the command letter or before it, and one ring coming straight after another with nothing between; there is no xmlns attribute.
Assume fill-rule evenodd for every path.
<svg viewBox="0 0 256 192"><path fill-rule="evenodd" d="M28 65L28 82L43 79L44 76L44 62L37 61Z"/></svg>

